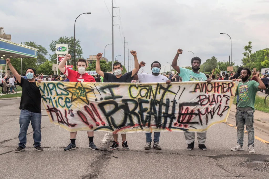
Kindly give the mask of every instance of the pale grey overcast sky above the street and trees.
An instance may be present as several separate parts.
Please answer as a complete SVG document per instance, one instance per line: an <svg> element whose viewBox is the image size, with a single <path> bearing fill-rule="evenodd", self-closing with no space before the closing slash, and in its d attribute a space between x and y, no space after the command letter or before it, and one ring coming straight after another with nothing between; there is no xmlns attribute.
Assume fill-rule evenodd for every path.
<svg viewBox="0 0 269 179"><path fill-rule="evenodd" d="M112 42L111 0L0 0L0 4L0 27L13 42L35 41L52 53L49 43L73 36L75 19L84 12L92 13L76 21L84 58L104 53ZM121 55L117 60L123 61L124 34L129 50L136 50L138 60L146 62L145 72L151 72L153 61L170 70L167 62L172 63L178 48L183 49L182 67L189 66L193 57L187 50L202 63L212 56L228 61L230 38L220 32L231 36L232 60L239 65L247 42L252 42L254 52L269 46L269 0L115 0L114 6L120 7L114 16L121 15L121 22L114 17L115 24L122 24L120 30L114 26L114 58ZM108 45L109 61L111 51Z"/></svg>

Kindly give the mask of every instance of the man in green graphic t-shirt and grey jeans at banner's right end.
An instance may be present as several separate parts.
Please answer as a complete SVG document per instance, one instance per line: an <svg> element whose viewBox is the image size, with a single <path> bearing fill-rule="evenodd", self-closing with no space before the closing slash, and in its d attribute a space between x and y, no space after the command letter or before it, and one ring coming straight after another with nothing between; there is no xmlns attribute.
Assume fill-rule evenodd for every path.
<svg viewBox="0 0 269 179"><path fill-rule="evenodd" d="M249 76L251 71L248 68L243 68L241 71L241 79L237 86L235 95L239 96L235 121L237 128L237 145L231 148L232 151L239 151L243 149L243 138L244 138L244 127L246 124L246 129L248 133L248 143L247 147L249 153L255 153L254 151L254 129L253 129L253 113L254 113L254 103L257 91L260 89L265 89L264 83L258 77L257 72L253 72L252 76L256 77L259 83L256 81L249 81ZM235 81L236 79L233 79Z"/></svg>

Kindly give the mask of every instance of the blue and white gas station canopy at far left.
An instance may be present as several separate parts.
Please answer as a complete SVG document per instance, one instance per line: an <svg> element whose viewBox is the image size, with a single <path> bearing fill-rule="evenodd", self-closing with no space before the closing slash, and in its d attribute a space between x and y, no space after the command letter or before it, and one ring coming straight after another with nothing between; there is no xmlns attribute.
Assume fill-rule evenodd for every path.
<svg viewBox="0 0 269 179"><path fill-rule="evenodd" d="M6 66L8 58L37 58L36 48L0 38L0 66Z"/></svg>

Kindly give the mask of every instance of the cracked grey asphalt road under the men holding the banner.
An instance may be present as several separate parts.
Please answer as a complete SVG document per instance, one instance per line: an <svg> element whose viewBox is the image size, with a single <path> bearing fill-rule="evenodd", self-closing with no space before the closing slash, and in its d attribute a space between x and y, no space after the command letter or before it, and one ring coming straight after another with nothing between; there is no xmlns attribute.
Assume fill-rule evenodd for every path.
<svg viewBox="0 0 269 179"><path fill-rule="evenodd" d="M186 150L181 132L161 133L162 150L144 150L144 133L127 134L129 151L108 151L112 135L95 132L99 150L88 149L86 132L77 134L77 149L63 151L69 143L69 132L49 122L42 111L41 146L33 149L33 130L28 129L26 151L15 153L19 134L20 99L0 100L0 178L269 178L269 173L243 167L250 161L269 161L269 145L255 140L255 154L230 151L236 144L236 129L225 123L207 132L207 151ZM44 108L43 108L44 109ZM120 136L120 135L119 135ZM247 144L247 134L244 136ZM121 137L119 137L121 141Z"/></svg>

